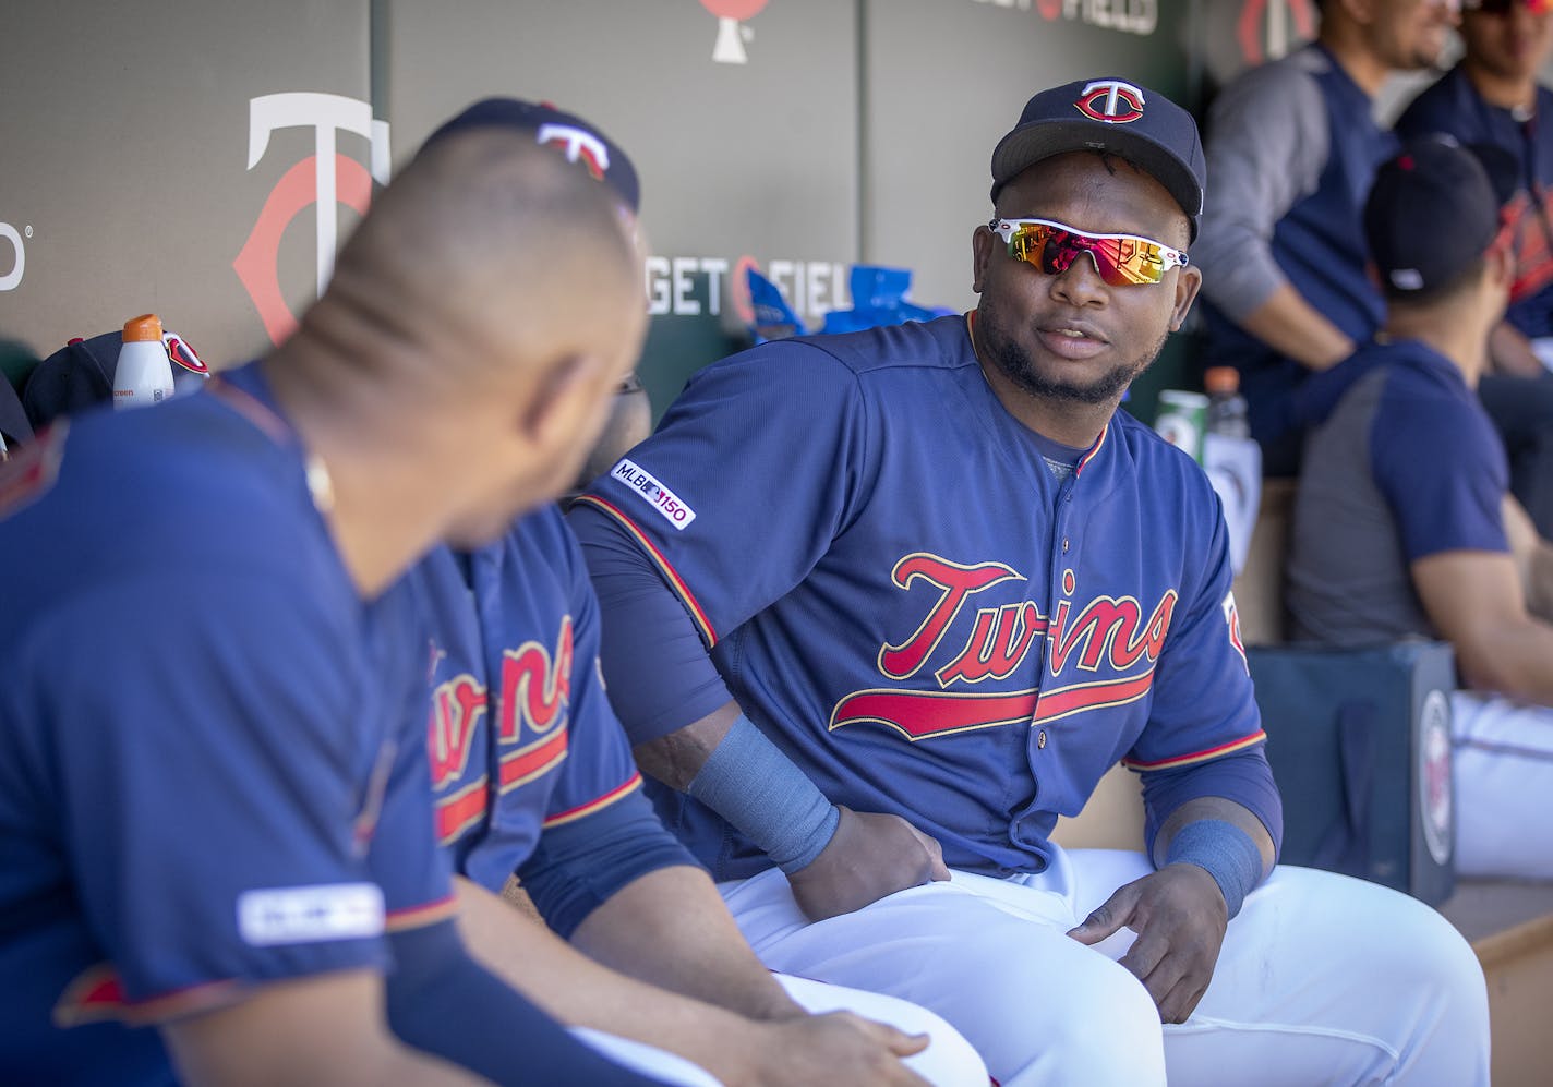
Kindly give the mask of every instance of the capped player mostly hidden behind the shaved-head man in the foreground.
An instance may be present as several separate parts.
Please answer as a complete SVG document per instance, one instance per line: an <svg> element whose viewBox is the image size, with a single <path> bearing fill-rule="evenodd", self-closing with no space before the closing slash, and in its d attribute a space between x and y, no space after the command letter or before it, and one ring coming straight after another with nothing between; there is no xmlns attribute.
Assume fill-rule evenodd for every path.
<svg viewBox="0 0 1553 1087"><path fill-rule="evenodd" d="M601 182L618 216L634 224L640 186L631 160L576 115L486 99L429 146L488 126L587 140L607 165ZM644 398L631 405L644 407ZM617 393L612 415L620 408ZM623 435L629 427L599 441L618 446ZM898 1057L927 1039L848 1014L863 1012L932 1034L912 1059L932 1082L986 1087L980 1059L935 1016L890 997L778 980L755 958L705 870L641 794L598 671L598 601L553 503L483 548L438 548L410 581L432 637L427 748L438 835L466 877L463 930L475 958L562 1022L680 1054L725 1084L921 1084ZM542 919L497 898L514 873ZM846 1011L811 1016L806 1006Z"/></svg>

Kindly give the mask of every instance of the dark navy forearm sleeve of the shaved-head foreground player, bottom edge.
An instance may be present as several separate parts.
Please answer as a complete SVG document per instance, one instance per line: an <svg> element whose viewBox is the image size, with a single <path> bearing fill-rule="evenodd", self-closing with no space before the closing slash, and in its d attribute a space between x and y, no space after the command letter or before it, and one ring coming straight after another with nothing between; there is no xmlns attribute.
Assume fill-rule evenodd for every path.
<svg viewBox="0 0 1553 1087"><path fill-rule="evenodd" d="M413 1048L497 1084L652 1084L610 1064L469 958L455 922L391 936L388 1025Z"/></svg>

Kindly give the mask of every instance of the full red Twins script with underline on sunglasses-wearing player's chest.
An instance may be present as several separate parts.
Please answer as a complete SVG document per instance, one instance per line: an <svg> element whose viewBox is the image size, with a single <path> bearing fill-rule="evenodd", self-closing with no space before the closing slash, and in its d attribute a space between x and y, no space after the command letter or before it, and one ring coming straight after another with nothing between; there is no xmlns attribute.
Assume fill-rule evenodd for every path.
<svg viewBox="0 0 1553 1087"><path fill-rule="evenodd" d="M972 596L1023 579L1002 562L966 567L935 554L905 556L891 571L896 587L910 589L922 581L938 590L938 598L912 637L881 646L879 672L891 680L918 675ZM1073 571L1064 571L1064 596L1050 616L1028 599L978 609L964 646L933 672L938 691L856 691L836 703L829 727L873 721L918 741L1020 721L1045 724L1141 699L1154 683L1154 663L1176 613L1176 590L1165 590L1145 613L1132 596L1096 596L1078 606L1068 599L1075 589ZM1045 689L986 694L963 689L1008 679L1031 649L1048 654ZM1064 686L1062 679L1076 682ZM961 688L950 689L955 683Z"/></svg>

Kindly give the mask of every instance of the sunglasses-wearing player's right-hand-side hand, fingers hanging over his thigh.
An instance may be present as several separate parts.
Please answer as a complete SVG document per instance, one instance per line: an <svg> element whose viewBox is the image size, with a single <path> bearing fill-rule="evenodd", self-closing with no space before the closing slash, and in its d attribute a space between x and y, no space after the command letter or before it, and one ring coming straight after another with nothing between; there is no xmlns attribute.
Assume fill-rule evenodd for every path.
<svg viewBox="0 0 1553 1087"><path fill-rule="evenodd" d="M1143 981L1162 1022L1185 1023L1213 978L1228 922L1213 876L1182 863L1120 888L1068 935L1098 944L1123 927L1138 933L1120 963Z"/></svg>

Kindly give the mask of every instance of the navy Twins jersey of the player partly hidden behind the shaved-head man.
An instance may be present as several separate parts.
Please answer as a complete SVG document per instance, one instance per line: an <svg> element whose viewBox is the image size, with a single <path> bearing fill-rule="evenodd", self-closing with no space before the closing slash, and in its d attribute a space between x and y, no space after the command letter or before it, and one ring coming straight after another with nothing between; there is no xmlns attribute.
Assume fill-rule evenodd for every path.
<svg viewBox="0 0 1553 1087"><path fill-rule="evenodd" d="M554 506L472 554L432 553L410 581L433 632L438 834L499 891L540 831L641 786L598 672L598 603Z"/></svg>

